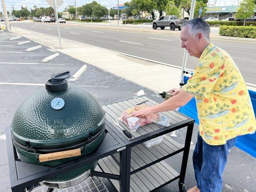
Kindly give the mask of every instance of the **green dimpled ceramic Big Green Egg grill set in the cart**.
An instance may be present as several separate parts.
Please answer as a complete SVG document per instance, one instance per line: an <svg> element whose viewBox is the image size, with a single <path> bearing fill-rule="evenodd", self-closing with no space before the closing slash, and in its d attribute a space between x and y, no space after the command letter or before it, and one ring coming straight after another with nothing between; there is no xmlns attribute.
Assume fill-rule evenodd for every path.
<svg viewBox="0 0 256 192"><path fill-rule="evenodd" d="M51 76L45 88L37 90L14 114L12 142L22 162L55 167L97 149L104 139L105 112L94 96L69 87L69 72ZM40 162L39 156L80 149L81 156ZM98 161L86 164L42 183L50 188L64 188L85 180Z"/></svg>

